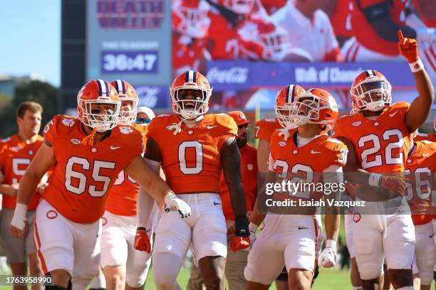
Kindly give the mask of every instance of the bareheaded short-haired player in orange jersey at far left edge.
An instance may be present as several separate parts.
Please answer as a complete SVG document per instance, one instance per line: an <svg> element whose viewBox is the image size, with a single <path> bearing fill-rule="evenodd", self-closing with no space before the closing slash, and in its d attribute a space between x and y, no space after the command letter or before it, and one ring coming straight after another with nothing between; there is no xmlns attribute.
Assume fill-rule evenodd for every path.
<svg viewBox="0 0 436 290"><path fill-rule="evenodd" d="M17 239L9 232L9 223L14 215L19 182L28 164L31 163L39 147L43 144L43 138L38 134L42 112L43 108L36 102L21 103L16 109L18 134L12 135L0 143L0 172L4 175L4 181L0 184L0 193L3 194L0 232L1 242L4 245L13 275L26 275L27 257L30 274L32 276L41 276L42 274L33 244L33 225L26 225L26 231L28 230L30 234L24 239ZM40 188L43 188L42 184L38 186L38 189ZM30 223L33 221L34 210L40 198L41 194L39 190L36 190L26 216ZM23 287L14 286L14 289L23 289ZM35 284L32 289L41 289L41 286Z"/></svg>

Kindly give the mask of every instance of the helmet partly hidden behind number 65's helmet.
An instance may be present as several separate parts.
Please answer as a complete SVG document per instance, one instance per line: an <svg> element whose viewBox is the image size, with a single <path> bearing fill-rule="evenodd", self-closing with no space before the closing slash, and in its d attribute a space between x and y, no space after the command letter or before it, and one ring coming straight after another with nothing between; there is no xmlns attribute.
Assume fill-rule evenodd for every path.
<svg viewBox="0 0 436 290"><path fill-rule="evenodd" d="M136 121L137 103L139 102L135 89L125 80L113 80L110 85L115 87L121 102L118 124L131 125Z"/></svg>

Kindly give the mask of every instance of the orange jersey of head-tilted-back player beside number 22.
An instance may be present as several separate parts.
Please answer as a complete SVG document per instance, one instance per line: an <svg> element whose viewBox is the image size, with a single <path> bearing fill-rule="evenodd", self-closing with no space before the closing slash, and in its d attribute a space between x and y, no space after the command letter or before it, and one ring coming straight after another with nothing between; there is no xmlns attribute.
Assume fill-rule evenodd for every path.
<svg viewBox="0 0 436 290"><path fill-rule="evenodd" d="M296 184L303 181L303 183L316 185L323 183L321 173L326 168L332 165L345 166L348 149L343 142L331 136L321 135L308 144L297 147L294 142L297 131L298 129L289 130L291 136L286 141L283 136L279 136L279 131L271 136L269 146L271 147L272 160L269 167L270 171L274 171L279 178L286 178L286 180ZM280 181L276 182L279 183ZM296 193L274 193L273 198L275 200L283 198L320 200L323 197L323 191L312 189L301 190Z"/></svg>

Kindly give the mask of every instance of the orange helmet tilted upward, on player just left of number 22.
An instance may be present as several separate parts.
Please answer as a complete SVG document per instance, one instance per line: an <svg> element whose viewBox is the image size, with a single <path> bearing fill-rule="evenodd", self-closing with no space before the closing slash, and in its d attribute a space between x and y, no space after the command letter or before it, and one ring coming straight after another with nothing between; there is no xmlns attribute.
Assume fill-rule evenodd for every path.
<svg viewBox="0 0 436 290"><path fill-rule="evenodd" d="M308 123L325 124L331 129L339 117L336 100L329 92L318 88L297 95L292 108L290 119L296 126Z"/></svg>

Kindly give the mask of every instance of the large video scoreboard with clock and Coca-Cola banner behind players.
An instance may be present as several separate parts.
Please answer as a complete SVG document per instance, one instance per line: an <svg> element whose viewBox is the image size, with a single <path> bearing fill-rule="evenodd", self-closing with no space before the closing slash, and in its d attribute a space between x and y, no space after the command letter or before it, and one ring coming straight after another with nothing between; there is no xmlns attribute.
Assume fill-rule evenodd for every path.
<svg viewBox="0 0 436 290"><path fill-rule="evenodd" d="M215 110L271 110L277 90L290 84L323 87L348 110L354 77L372 69L390 81L394 102L410 102L417 92L396 31L417 39L435 83L436 16L423 9L426 0L380 1L390 26L380 25L373 2L88 1L87 78L128 80L140 104L162 110L185 70L208 78Z"/></svg>

